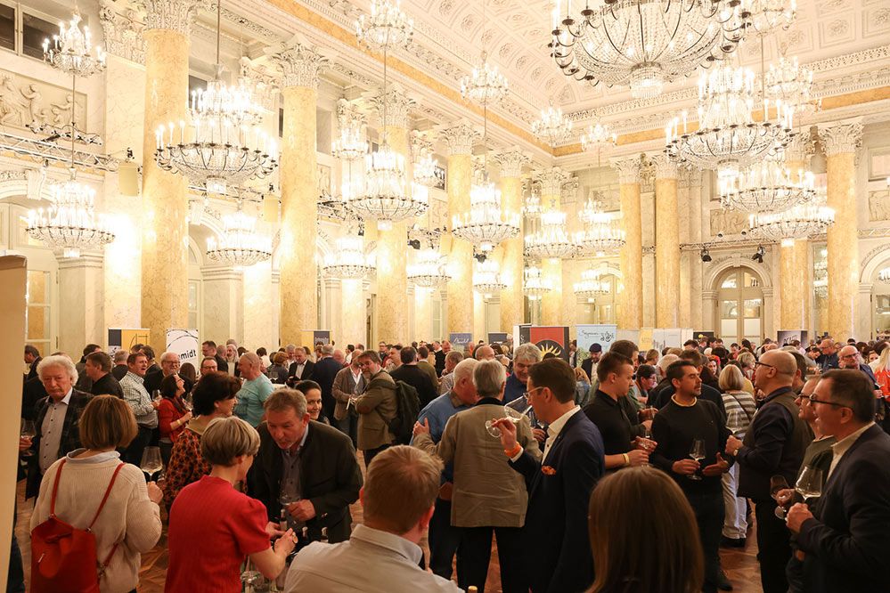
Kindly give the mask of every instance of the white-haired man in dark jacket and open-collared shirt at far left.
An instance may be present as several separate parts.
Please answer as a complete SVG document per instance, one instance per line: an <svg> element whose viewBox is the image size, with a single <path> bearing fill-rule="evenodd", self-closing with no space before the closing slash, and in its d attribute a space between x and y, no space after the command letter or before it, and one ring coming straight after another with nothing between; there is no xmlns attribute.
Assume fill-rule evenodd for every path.
<svg viewBox="0 0 890 593"><path fill-rule="evenodd" d="M37 435L31 441L26 499L37 496L43 475L56 459L81 447L78 422L92 397L74 388L78 371L67 356L47 356L37 365L37 376L48 396L37 402Z"/></svg>

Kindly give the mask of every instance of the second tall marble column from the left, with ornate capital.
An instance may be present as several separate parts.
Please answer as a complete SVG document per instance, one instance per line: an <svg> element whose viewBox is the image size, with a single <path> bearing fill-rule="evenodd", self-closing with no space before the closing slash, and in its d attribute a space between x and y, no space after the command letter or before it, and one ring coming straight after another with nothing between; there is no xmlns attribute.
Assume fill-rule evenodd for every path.
<svg viewBox="0 0 890 593"><path fill-rule="evenodd" d="M284 130L279 178L282 187L281 272L282 344L301 345L302 331L320 329L315 286L318 271L318 191L315 183L315 105L318 70L327 59L315 47L294 44L278 53L282 67Z"/></svg>

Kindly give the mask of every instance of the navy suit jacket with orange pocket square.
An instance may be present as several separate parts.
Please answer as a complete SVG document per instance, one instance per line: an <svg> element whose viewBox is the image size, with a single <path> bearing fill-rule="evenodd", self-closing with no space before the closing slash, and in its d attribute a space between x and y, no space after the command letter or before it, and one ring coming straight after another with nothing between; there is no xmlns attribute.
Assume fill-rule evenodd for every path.
<svg viewBox="0 0 890 593"><path fill-rule="evenodd" d="M543 463L528 453L510 462L526 478L525 549L527 565L535 567L534 593L577 593L593 584L587 507L605 467L603 451L600 430L578 410Z"/></svg>

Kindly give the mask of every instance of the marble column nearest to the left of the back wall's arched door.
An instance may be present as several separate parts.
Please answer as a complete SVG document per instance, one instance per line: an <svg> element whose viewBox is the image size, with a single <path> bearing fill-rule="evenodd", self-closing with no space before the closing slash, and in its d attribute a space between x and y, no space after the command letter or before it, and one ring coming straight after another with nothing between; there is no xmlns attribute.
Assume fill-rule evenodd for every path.
<svg viewBox="0 0 890 593"><path fill-rule="evenodd" d="M680 223L677 212L677 167L665 155L655 164L655 265L657 299L655 324L676 328L680 322Z"/></svg>

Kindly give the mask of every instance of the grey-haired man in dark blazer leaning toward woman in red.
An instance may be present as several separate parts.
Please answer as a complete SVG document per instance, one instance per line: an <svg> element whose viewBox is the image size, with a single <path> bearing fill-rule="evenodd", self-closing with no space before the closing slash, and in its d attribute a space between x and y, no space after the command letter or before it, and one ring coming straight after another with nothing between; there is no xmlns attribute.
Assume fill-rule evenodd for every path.
<svg viewBox="0 0 890 593"><path fill-rule="evenodd" d="M306 413L306 397L292 389L279 389L265 401L266 421L257 427L259 452L248 474L248 493L260 500L269 521L282 518L282 491L296 502L287 505L289 523L299 529L298 547L322 540L349 539L352 516L349 505L358 500L362 472L347 435L314 422Z"/></svg>

